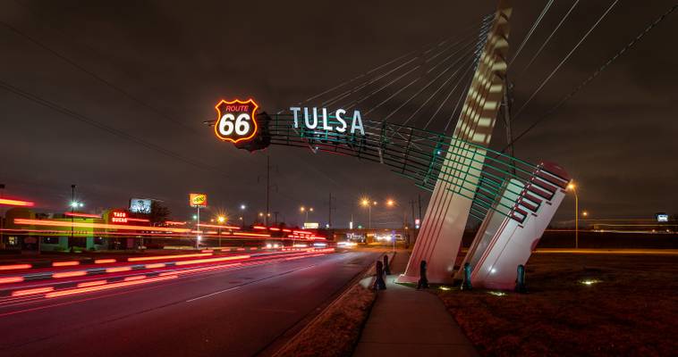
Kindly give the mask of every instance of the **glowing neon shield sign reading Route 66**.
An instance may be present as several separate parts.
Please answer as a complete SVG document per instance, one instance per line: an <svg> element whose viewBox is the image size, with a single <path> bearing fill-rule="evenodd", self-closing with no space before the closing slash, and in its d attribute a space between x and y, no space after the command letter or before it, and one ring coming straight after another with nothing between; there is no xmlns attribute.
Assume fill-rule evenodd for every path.
<svg viewBox="0 0 678 357"><path fill-rule="evenodd" d="M242 101L221 100L215 106L218 117L215 123L216 137L233 144L248 141L257 135L257 108L251 98Z"/></svg>

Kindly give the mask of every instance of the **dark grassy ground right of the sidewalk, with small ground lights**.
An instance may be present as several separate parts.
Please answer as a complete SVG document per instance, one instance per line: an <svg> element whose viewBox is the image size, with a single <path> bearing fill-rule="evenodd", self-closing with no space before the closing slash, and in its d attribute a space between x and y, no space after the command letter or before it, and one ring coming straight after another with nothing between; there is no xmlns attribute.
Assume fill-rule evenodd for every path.
<svg viewBox="0 0 678 357"><path fill-rule="evenodd" d="M533 254L526 282L438 294L482 355L678 355L678 256Z"/></svg>

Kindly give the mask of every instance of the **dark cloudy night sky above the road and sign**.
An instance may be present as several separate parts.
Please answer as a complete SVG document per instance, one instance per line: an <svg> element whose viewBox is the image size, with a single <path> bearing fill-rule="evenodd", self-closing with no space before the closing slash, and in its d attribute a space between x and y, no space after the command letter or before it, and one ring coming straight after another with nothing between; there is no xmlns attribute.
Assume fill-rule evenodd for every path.
<svg viewBox="0 0 678 357"><path fill-rule="evenodd" d="M545 1L516 2L512 55ZM520 107L612 1L582 1L530 70L520 75L572 1L555 2L509 70ZM521 132L589 77L672 1L621 1L515 122ZM270 154L271 212L327 220L351 214L366 224L361 195L398 207L373 211L375 226L397 226L409 201L428 193L373 162L271 146L249 154L216 140L204 120L221 98L253 97L277 112L422 45L451 37L493 12L495 1L5 1L0 3L0 81L105 123L147 146L74 120L0 88L0 183L5 196L40 210L67 209L71 184L89 211L124 207L130 197L163 200L187 219L189 192L209 195L212 212L247 220L265 209ZM33 37L50 53L13 29ZM588 87L516 145L529 162L558 162L580 187L593 218L678 213L678 13L662 22ZM76 68L73 63L81 69ZM84 70L84 71L83 71ZM121 94L100 80L129 93ZM397 120L396 120L397 121ZM493 146L505 145L497 125ZM184 160L187 159L187 160ZM186 162L189 161L189 162ZM191 162L191 163L190 163ZM425 207L422 207L422 211ZM555 220L572 220L567 197Z"/></svg>

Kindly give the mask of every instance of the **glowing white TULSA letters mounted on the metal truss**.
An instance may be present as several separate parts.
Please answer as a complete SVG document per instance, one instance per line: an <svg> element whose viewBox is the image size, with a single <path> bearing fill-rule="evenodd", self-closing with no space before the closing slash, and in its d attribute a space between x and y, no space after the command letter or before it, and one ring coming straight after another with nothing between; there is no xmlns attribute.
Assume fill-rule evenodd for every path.
<svg viewBox="0 0 678 357"><path fill-rule="evenodd" d="M339 133L345 133L349 129L349 119L344 117L346 111L343 109L337 109L334 117L327 115L327 108L301 108L293 106L290 108L290 111L294 114L294 128L299 128L300 125L303 125L306 129L337 131ZM303 112L303 120L300 118L301 112ZM330 122L330 119L335 121ZM330 124L338 125L333 127ZM356 131L360 132L360 135L365 135L359 111L353 111L351 119L350 133L355 134Z"/></svg>

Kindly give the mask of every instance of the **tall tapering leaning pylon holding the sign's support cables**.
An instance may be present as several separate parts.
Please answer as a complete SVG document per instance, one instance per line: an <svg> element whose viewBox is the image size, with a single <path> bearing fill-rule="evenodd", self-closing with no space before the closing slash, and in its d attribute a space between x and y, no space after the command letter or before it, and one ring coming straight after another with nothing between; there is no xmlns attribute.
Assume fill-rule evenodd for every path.
<svg viewBox="0 0 678 357"><path fill-rule="evenodd" d="M419 279L421 261L428 262L428 279L436 283L451 283L454 262L462 244L471 202L451 189L454 185L474 188L479 177L468 175L469 170L482 170L484 160L472 160L470 144L487 146L495 128L496 115L504 95L506 54L508 52L509 18L512 7L500 1L494 24L480 55L469 92L463 104L461 117L453 131L451 146L461 140L460 149L445 155L445 165L438 173L436 187L428 203L420 234L411 253L407 270L398 278L401 282ZM479 153L481 155L485 153ZM462 182L463 181L463 182Z"/></svg>

